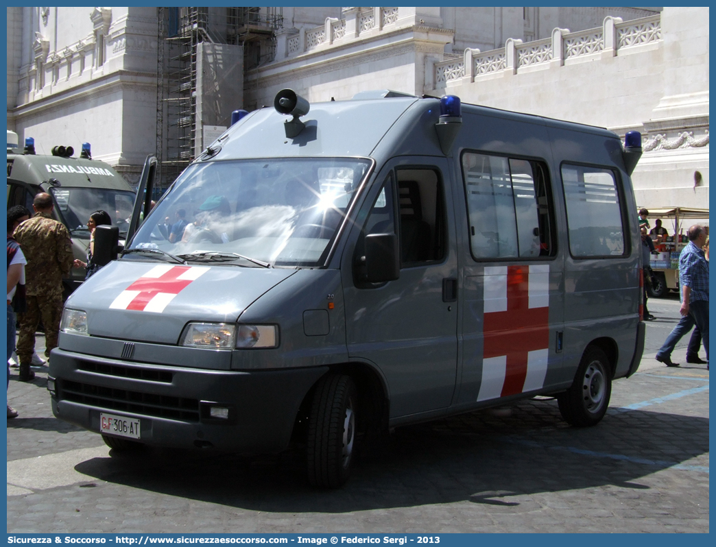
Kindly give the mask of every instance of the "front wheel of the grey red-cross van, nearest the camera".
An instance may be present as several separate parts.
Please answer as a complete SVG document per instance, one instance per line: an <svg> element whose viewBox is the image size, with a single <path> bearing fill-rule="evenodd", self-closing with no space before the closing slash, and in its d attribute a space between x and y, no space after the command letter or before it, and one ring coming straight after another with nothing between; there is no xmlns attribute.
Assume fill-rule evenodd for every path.
<svg viewBox="0 0 716 547"><path fill-rule="evenodd" d="M356 437L357 390L351 377L329 374L316 385L306 435L309 483L338 488L350 475Z"/></svg>

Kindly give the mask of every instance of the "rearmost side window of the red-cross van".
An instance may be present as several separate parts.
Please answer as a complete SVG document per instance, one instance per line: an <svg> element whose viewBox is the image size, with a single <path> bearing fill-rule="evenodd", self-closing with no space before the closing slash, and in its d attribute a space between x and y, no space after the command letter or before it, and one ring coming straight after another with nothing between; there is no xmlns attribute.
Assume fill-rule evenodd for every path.
<svg viewBox="0 0 716 547"><path fill-rule="evenodd" d="M624 208L609 169L563 164L569 251L575 258L623 256Z"/></svg>

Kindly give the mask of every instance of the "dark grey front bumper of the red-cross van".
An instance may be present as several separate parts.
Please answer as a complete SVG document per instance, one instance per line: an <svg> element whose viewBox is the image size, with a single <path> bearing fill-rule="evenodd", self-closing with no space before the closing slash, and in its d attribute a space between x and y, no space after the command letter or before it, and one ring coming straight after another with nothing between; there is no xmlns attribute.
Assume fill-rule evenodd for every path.
<svg viewBox="0 0 716 547"><path fill-rule="evenodd" d="M327 367L241 372L171 367L52 350L52 412L100 432L100 412L140 419L140 442L279 452L306 393ZM212 418L213 403L229 407Z"/></svg>

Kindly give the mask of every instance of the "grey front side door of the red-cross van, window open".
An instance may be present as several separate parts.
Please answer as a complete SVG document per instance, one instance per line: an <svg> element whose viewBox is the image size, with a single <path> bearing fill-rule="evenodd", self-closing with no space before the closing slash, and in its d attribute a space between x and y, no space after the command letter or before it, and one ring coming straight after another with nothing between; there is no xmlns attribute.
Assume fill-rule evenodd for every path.
<svg viewBox="0 0 716 547"><path fill-rule="evenodd" d="M400 158L376 179L364 204L367 221L356 251L344 256L347 345L371 362L390 393L390 417L450 406L458 361L458 258L446 162ZM365 215L359 218L366 218ZM397 233L400 278L383 284L352 279L361 238Z"/></svg>

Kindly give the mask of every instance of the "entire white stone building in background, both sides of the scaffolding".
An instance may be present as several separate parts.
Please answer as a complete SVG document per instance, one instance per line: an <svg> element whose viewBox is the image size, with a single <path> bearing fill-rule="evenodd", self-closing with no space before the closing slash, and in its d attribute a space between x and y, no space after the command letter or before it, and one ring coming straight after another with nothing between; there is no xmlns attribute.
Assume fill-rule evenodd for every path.
<svg viewBox="0 0 716 547"><path fill-rule="evenodd" d="M225 83L243 87L236 108L271 105L284 87L311 102L394 89L637 129L639 204L707 203L708 8L281 10L271 39L253 48L258 66ZM7 15L8 128L45 153L91 142L134 182L157 147L157 9Z"/></svg>

